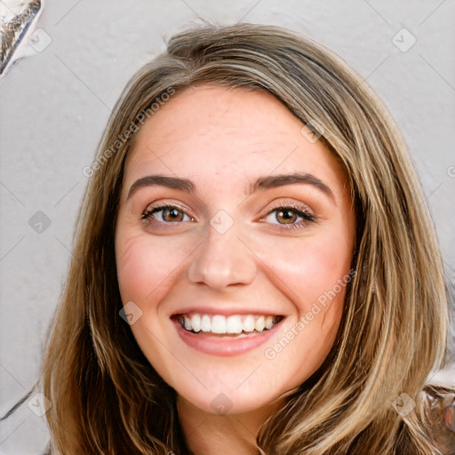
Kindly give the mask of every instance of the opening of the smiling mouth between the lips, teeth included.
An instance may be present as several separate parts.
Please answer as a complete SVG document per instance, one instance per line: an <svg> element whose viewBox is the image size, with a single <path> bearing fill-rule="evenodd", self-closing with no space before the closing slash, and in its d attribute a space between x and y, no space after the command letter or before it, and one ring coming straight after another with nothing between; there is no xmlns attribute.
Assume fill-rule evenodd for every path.
<svg viewBox="0 0 455 455"><path fill-rule="evenodd" d="M271 330L282 315L205 315L189 313L173 315L184 331L195 335L220 338L243 338Z"/></svg>

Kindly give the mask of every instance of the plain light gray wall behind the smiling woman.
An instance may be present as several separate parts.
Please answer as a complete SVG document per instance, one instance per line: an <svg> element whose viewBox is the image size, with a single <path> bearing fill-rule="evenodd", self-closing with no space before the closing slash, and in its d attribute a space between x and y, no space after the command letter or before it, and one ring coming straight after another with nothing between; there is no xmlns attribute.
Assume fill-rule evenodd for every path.
<svg viewBox="0 0 455 455"><path fill-rule="evenodd" d="M2 415L36 380L71 258L87 184L82 171L110 109L132 74L164 51L164 40L198 17L294 29L339 53L371 84L411 150L455 275L453 0L47 2L36 27L51 44L19 60L0 82ZM407 52L411 36L396 35L402 28L417 39ZM39 220L38 211L51 221L41 233L36 218L29 222ZM24 404L0 424L0 453L39 453L46 432L44 418Z"/></svg>

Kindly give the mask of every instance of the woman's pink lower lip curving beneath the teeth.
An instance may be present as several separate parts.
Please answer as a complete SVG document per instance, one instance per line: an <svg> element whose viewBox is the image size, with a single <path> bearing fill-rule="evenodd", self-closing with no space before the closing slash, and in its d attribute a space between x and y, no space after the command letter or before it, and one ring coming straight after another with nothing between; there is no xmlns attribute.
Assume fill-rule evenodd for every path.
<svg viewBox="0 0 455 455"><path fill-rule="evenodd" d="M189 347L193 347L205 354L229 357L243 354L264 344L268 339L275 335L278 330L277 326L280 325L282 321L275 323L274 326L267 331L247 335L243 338L230 338L228 336L226 338L220 338L220 336L217 335L205 335L201 332L193 333L185 330L180 325L179 321L174 320L173 323L180 339L185 341Z"/></svg>

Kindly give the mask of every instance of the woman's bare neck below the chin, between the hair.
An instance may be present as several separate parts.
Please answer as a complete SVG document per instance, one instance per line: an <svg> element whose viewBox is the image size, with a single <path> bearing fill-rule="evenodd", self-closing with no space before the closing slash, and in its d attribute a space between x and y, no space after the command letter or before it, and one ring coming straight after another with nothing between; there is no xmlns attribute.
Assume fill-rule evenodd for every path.
<svg viewBox="0 0 455 455"><path fill-rule="evenodd" d="M197 408L178 395L180 425L194 455L257 455L259 428L283 406L283 400L259 410L219 415Z"/></svg>

